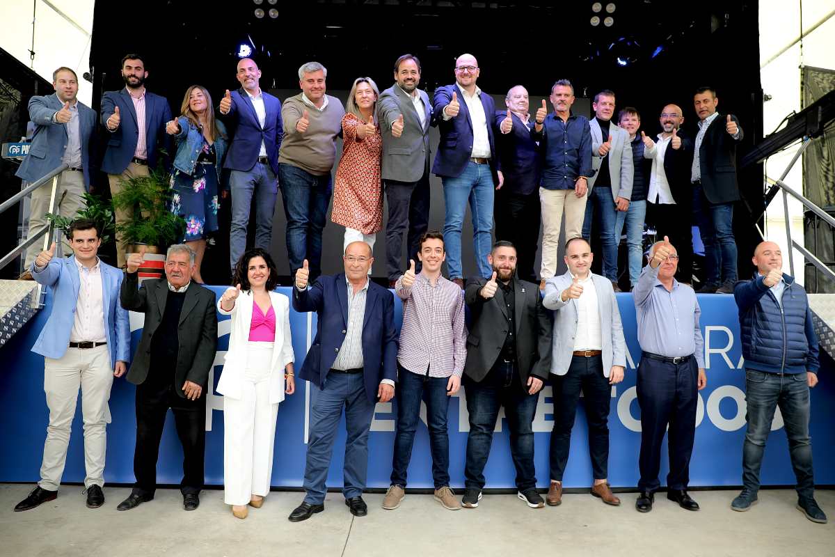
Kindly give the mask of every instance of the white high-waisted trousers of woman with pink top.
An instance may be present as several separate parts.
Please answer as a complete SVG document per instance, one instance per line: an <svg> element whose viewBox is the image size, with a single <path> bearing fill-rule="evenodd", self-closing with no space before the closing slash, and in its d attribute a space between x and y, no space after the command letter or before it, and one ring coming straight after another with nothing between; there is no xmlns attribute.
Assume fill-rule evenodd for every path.
<svg viewBox="0 0 835 557"><path fill-rule="evenodd" d="M223 397L225 504L270 494L278 404L270 403L272 342L250 342L240 399Z"/></svg>

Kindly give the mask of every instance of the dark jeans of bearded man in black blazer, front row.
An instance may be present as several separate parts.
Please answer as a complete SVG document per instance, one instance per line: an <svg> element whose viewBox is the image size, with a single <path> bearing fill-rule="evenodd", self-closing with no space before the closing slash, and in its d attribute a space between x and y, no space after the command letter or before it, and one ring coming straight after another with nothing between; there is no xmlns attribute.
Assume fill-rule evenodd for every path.
<svg viewBox="0 0 835 557"><path fill-rule="evenodd" d="M503 406L510 430L510 455L516 468L516 486L522 492L536 487L533 423L539 392L529 395L514 367L513 363L505 363L499 358L481 382L467 376L463 378L470 424L464 467L464 485L468 488L483 489L486 483L484 465L490 455L498 410Z"/></svg>

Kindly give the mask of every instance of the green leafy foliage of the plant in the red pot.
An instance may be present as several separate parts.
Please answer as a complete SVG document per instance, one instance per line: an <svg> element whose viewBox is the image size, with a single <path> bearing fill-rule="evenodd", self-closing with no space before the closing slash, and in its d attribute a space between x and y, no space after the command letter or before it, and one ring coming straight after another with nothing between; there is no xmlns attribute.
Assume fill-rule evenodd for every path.
<svg viewBox="0 0 835 557"><path fill-rule="evenodd" d="M163 170L122 181L113 206L115 210L134 210L133 218L116 226L126 244L164 248L182 240L185 220L169 210L173 195L169 181L170 175Z"/></svg>

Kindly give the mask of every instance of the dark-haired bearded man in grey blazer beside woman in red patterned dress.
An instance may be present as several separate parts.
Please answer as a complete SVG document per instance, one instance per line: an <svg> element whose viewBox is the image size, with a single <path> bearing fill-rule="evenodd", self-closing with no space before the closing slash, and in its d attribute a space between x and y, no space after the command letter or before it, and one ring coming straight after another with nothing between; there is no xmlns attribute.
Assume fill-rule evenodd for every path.
<svg viewBox="0 0 835 557"><path fill-rule="evenodd" d="M386 273L389 287L406 266L402 257L403 230L408 228L405 260L417 261L420 237L429 222L429 128L437 123L432 104L420 84L420 61L403 54L394 63L391 87L377 100L382 134L382 180L388 199Z"/></svg>

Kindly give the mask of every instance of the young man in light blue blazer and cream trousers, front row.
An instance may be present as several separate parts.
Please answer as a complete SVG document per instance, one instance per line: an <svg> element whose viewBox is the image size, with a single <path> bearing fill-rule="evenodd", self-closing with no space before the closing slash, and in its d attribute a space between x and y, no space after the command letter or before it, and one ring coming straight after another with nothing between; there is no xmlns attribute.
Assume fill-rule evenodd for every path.
<svg viewBox="0 0 835 557"><path fill-rule="evenodd" d="M104 504L104 454L110 422L108 401L114 377L124 375L130 356L128 312L119 304L122 273L99 260L99 230L92 220L70 225L75 252L53 259L55 244L31 267L35 281L52 292L52 312L32 352L43 356L43 390L49 408L41 480L14 509L34 509L58 496L78 387L84 423L87 506Z"/></svg>

